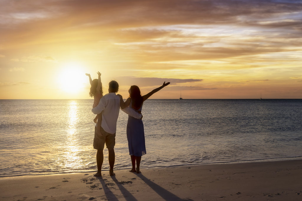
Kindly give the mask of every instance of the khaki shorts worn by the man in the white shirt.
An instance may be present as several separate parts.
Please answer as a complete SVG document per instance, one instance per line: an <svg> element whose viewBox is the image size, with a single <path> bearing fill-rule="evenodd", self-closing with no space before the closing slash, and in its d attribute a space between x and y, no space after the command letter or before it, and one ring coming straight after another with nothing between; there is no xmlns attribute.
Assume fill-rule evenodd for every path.
<svg viewBox="0 0 302 201"><path fill-rule="evenodd" d="M106 143L107 149L114 148L115 145L115 133L111 134L101 127L101 132L97 132L97 127L95 127L95 137L93 139L93 148L94 149L104 149Z"/></svg>

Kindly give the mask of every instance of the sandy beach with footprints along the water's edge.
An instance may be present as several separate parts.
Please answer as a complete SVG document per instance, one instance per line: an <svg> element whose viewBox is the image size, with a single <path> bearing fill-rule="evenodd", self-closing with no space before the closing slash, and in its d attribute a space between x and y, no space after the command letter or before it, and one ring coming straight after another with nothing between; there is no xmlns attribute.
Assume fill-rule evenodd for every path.
<svg viewBox="0 0 302 201"><path fill-rule="evenodd" d="M0 178L2 200L302 200L302 160Z"/></svg>

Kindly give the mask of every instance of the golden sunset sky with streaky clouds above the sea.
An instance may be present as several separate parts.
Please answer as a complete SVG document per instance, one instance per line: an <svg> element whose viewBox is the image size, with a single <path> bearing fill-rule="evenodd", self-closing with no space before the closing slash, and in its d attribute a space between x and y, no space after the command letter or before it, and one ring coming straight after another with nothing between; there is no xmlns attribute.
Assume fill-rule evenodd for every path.
<svg viewBox="0 0 302 201"><path fill-rule="evenodd" d="M300 0L0 0L0 99L302 99Z"/></svg>

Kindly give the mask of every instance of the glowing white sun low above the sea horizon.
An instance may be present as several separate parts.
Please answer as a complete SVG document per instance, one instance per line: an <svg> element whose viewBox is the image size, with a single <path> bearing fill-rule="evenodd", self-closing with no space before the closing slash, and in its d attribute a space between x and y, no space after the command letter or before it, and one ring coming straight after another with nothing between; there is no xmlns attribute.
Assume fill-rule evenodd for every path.
<svg viewBox="0 0 302 201"><path fill-rule="evenodd" d="M67 93L78 93L85 86L86 81L87 76L79 63L64 64L59 72L59 87Z"/></svg>

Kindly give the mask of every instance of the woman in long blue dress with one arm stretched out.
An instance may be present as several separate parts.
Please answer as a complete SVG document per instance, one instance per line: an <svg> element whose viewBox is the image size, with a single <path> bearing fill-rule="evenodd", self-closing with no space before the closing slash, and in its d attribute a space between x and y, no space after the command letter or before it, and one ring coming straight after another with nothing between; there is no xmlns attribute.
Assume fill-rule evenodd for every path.
<svg viewBox="0 0 302 201"><path fill-rule="evenodd" d="M130 97L125 102L123 100L123 97L118 94L120 96L120 106L122 109L129 106L136 110L138 113L141 113L143 102L147 100L150 96L152 96L154 93L167 86L168 84L170 84L170 82L164 82L162 86L152 90L144 96L141 95L140 88L138 88L138 86L132 85L129 89ZM131 116L128 116L127 140L129 155L131 156L132 163L132 169L130 170L130 172L140 173L140 160L142 158L142 155L146 154L144 125L141 119L136 119ZM137 164L136 169L135 162Z"/></svg>

